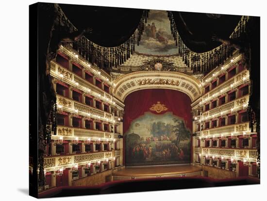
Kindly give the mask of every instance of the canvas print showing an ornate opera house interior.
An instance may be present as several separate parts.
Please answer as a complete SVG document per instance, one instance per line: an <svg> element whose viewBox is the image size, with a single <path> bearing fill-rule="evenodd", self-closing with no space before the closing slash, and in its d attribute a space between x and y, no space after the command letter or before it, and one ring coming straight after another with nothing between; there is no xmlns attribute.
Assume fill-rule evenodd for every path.
<svg viewBox="0 0 267 201"><path fill-rule="evenodd" d="M56 3L31 11L30 194L260 184L259 17Z"/></svg>

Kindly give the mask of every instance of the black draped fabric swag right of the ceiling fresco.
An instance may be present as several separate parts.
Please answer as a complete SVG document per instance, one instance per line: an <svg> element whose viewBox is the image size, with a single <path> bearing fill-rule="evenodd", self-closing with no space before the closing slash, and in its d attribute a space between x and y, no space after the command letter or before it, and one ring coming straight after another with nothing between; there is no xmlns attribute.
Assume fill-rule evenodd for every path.
<svg viewBox="0 0 267 201"><path fill-rule="evenodd" d="M229 38L241 16L215 15L172 11L177 31L185 46L190 50L202 53L221 45L213 41L212 36Z"/></svg>

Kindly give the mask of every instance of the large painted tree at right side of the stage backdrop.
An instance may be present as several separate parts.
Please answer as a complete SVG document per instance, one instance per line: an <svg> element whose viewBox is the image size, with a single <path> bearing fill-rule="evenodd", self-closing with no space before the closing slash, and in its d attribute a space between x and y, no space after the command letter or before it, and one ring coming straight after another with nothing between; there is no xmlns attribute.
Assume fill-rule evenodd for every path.
<svg viewBox="0 0 267 201"><path fill-rule="evenodd" d="M177 136L175 145L179 147L181 141L190 139L190 132L185 127L184 121L178 118L173 118L173 121L175 123L175 125L173 126L173 132Z"/></svg>

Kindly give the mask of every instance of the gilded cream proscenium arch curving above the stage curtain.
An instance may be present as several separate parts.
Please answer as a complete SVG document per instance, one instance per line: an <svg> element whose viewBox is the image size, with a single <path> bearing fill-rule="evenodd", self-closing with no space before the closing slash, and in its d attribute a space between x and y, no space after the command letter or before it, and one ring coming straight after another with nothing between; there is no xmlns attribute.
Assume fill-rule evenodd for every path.
<svg viewBox="0 0 267 201"><path fill-rule="evenodd" d="M138 71L118 77L114 84L114 96L122 102L134 91L151 88L181 91L187 94L192 102L201 96L200 81L181 72Z"/></svg>

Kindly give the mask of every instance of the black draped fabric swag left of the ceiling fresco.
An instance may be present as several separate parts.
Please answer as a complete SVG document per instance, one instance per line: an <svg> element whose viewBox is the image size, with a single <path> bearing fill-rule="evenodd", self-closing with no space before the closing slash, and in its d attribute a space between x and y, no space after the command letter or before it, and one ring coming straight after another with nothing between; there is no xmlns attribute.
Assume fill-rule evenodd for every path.
<svg viewBox="0 0 267 201"><path fill-rule="evenodd" d="M92 33L84 36L102 47L117 47L126 42L134 34L144 12L133 8L59 5L79 31L92 28Z"/></svg>

